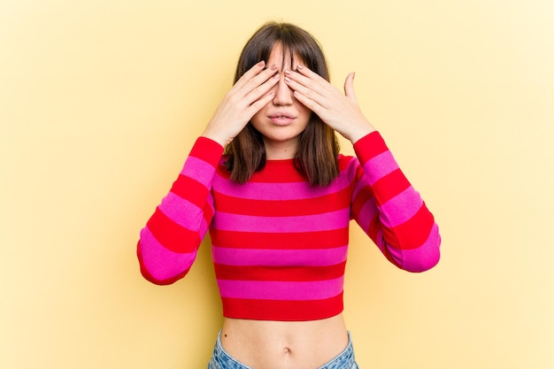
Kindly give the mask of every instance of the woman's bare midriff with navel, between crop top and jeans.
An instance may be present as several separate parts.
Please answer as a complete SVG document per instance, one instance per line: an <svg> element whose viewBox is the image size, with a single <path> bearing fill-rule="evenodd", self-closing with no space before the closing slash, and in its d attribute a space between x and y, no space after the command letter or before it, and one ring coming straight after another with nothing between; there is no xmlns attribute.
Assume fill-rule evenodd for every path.
<svg viewBox="0 0 554 369"><path fill-rule="evenodd" d="M244 365L264 369L318 368L348 344L342 314L328 319L225 319L221 342Z"/></svg>

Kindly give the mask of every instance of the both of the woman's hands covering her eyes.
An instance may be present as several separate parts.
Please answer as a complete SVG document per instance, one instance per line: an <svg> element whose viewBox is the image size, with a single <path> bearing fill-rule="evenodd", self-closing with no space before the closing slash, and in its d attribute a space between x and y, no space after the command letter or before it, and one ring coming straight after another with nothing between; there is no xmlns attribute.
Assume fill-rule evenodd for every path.
<svg viewBox="0 0 554 369"><path fill-rule="evenodd" d="M344 94L319 74L303 65L297 71L285 71L285 82L301 104L316 113L329 127L354 143L374 128L359 109L354 93L354 73L344 82ZM280 80L277 66L265 68L261 61L242 74L227 92L204 130L204 136L226 146L250 119L274 97Z"/></svg>

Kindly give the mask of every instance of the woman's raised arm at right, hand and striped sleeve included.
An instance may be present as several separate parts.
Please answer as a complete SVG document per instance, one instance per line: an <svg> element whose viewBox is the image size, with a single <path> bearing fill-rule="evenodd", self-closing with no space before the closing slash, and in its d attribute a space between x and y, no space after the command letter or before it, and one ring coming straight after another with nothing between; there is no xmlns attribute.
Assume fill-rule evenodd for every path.
<svg viewBox="0 0 554 369"><path fill-rule="evenodd" d="M411 272L433 267L441 243L433 214L365 119L354 92L354 73L346 78L344 93L302 65L285 75L296 98L354 145L361 165L353 218L395 265Z"/></svg>

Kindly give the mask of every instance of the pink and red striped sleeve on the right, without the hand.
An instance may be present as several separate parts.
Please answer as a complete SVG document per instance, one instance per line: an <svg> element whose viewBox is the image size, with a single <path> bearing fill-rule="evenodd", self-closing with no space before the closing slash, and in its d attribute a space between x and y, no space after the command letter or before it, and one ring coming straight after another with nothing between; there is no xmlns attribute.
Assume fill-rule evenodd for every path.
<svg viewBox="0 0 554 369"><path fill-rule="evenodd" d="M352 217L394 265L423 272L440 258L433 214L400 170L378 132L354 145L358 169Z"/></svg>

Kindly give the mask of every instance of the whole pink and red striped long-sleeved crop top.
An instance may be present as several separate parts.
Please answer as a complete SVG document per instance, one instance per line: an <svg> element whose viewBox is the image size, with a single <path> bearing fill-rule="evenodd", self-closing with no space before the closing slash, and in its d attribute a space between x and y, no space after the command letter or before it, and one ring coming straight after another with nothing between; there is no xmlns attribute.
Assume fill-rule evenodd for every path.
<svg viewBox="0 0 554 369"><path fill-rule="evenodd" d="M223 148L196 140L138 243L143 276L169 284L189 272L209 232L223 314L312 320L342 311L349 224L354 219L390 262L422 272L439 260L435 219L381 135L340 156L340 175L312 187L293 160L268 160L250 181L229 179Z"/></svg>

